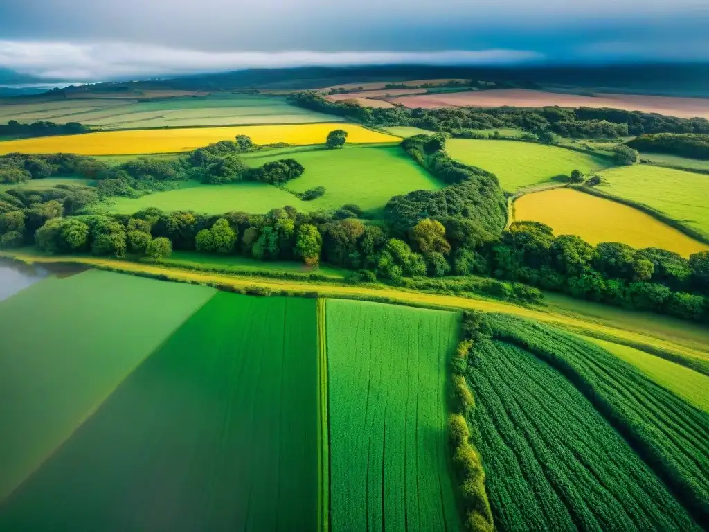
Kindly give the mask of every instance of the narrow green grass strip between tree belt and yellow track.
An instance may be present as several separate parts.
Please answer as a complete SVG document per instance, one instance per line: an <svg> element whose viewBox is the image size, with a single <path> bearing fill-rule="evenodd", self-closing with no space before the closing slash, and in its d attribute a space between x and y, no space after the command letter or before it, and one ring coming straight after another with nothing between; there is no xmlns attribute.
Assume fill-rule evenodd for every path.
<svg viewBox="0 0 709 532"><path fill-rule="evenodd" d="M308 268L303 262L287 262L284 260L264 261L241 257L239 255L205 255L191 251L174 251L169 259L165 260L169 266L203 267L233 270L235 274L259 275L264 270L269 272L298 273L307 275L310 273L331 277L333 280L342 280L350 275L350 270L343 270L328 265L320 265L316 269Z"/></svg>

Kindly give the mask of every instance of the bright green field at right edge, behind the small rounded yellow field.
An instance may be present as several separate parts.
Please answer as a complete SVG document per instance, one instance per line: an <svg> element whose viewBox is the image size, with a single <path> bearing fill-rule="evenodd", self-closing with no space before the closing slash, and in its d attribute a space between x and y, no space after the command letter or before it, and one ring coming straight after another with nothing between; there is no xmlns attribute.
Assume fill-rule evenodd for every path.
<svg viewBox="0 0 709 532"><path fill-rule="evenodd" d="M666 214L709 238L709 179L671 168L633 165L601 173L598 189Z"/></svg>

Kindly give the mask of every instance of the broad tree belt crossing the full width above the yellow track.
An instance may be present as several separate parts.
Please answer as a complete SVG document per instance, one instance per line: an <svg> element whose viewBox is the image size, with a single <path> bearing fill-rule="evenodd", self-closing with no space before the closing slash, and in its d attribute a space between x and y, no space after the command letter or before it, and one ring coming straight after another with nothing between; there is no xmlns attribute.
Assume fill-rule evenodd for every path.
<svg viewBox="0 0 709 532"><path fill-rule="evenodd" d="M92 214L99 182L99 187L58 185L0 193L0 245L36 243L50 253L117 257L159 259L174 249L301 260L313 266L326 262L353 270L353 282L408 286L410 278L430 277L426 286L434 289L448 289L441 282L450 275L484 275L680 318L709 317L708 252L686 260L654 248L593 246L576 236L554 236L551 228L535 222L516 222L503 231L506 199L493 174L450 160L444 135L419 135L404 141L402 148L447 186L394 196L383 224L363 219L354 204L308 213L286 206L268 214L214 216L158 209L133 216ZM61 162L62 172L81 161L65 155L46 160L57 167ZM152 162L125 163L123 171L140 175L149 169L155 177L174 170L163 168L164 160ZM517 292L522 299L539 298L515 288Z"/></svg>

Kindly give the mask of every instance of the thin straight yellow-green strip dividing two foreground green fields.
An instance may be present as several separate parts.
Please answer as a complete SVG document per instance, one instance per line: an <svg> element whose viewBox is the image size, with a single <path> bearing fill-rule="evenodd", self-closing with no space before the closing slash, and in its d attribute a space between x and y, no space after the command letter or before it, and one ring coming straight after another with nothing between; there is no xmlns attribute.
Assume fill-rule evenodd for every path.
<svg viewBox="0 0 709 532"><path fill-rule="evenodd" d="M328 399L328 340L325 313L325 298L317 302L318 320L318 523L320 530L328 532L330 526L330 412Z"/></svg>

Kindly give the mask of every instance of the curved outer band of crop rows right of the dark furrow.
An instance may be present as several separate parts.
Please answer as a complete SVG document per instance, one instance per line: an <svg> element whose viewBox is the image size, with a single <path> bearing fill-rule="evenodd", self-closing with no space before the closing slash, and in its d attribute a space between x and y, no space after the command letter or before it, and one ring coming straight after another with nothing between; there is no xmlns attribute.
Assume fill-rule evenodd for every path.
<svg viewBox="0 0 709 532"><path fill-rule="evenodd" d="M625 437L688 513L698 523L707 522L709 414L596 345L517 318L494 316L487 323L493 338L529 350L562 372Z"/></svg>

